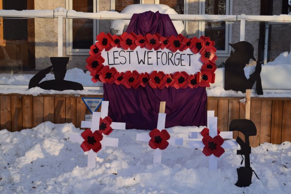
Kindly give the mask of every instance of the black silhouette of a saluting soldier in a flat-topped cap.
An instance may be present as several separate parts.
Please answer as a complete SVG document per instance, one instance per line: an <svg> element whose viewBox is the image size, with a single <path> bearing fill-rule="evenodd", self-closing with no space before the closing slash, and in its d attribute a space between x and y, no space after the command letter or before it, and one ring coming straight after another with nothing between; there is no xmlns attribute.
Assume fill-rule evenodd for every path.
<svg viewBox="0 0 291 194"><path fill-rule="evenodd" d="M51 57L52 66L45 68L35 74L29 81L28 89L34 87L40 87L45 90L83 90L83 86L80 83L64 80L67 72L67 64L69 57ZM55 79L47 80L39 83L45 75L53 70Z"/></svg>

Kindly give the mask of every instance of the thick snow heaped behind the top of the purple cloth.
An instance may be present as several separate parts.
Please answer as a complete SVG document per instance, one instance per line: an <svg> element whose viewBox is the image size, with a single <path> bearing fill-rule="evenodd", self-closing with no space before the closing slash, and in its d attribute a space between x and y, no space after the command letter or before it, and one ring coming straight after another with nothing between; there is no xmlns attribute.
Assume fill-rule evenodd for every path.
<svg viewBox="0 0 291 194"><path fill-rule="evenodd" d="M162 5L162 4L133 4L128 5L125 7L120 13L143 13L146 11L152 11L162 14L178 14L174 9L170 8L168 5ZM123 32L125 32L127 26L129 25L130 20L113 20L111 22L111 29L114 29L117 31L117 35L121 35ZM182 33L182 31L185 29L184 24L182 21L172 21L178 34ZM125 29L124 29L125 28Z"/></svg>

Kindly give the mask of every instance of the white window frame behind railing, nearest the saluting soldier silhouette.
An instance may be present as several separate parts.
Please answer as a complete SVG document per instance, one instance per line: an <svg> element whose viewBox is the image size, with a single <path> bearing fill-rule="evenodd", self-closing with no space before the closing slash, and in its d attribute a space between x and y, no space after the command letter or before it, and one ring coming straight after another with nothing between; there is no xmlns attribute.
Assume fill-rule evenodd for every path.
<svg viewBox="0 0 291 194"><path fill-rule="evenodd" d="M99 12L99 4L97 0L93 1L93 13ZM73 0L66 0L66 9L73 10ZM92 44L99 34L99 20L93 20L93 37ZM66 18L66 55L89 55L90 49L73 49L73 19Z"/></svg>

